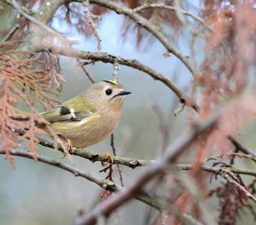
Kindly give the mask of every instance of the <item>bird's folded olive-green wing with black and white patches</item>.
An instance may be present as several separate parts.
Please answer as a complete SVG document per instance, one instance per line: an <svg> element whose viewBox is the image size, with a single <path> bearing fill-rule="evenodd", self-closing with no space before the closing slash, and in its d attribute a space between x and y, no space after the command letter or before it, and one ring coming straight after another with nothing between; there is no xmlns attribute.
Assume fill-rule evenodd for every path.
<svg viewBox="0 0 256 225"><path fill-rule="evenodd" d="M94 107L84 103L84 98L78 96L56 106L53 110L41 113L50 122L56 121L81 121L96 113Z"/></svg>

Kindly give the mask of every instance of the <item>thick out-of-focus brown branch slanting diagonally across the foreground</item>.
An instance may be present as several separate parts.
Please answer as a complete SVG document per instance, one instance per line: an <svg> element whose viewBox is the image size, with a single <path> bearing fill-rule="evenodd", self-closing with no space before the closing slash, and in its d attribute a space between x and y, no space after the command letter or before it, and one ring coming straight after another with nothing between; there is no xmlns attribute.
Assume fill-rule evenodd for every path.
<svg viewBox="0 0 256 225"><path fill-rule="evenodd" d="M133 182L127 186L125 190L120 191L104 202L101 202L99 205L93 208L93 210L88 211L87 214L78 217L76 224L80 225L96 223L96 218L99 216L99 214L108 216L116 208L120 207L120 205L123 205L123 203L136 196L136 194L142 190L142 187L144 187L148 181L151 181L154 176L163 172L169 163L174 163L177 157L186 151L187 147L194 142L194 139L197 139L197 136L200 136L200 134L213 127L218 121L220 115L220 113L213 115L212 118L209 118L209 120L197 124L197 126L194 127L194 130L190 131L189 133L184 133L184 135L176 139L175 142L173 142L172 145L169 145L169 147L166 149L166 153L163 155L163 157L156 163L148 166L148 169L146 169L140 175L133 178Z"/></svg>

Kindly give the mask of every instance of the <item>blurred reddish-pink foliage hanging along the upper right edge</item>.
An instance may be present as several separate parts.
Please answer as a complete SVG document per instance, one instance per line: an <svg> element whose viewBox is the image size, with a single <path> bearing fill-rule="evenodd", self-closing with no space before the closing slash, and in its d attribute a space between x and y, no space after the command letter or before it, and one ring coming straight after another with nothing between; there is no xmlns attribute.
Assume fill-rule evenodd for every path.
<svg viewBox="0 0 256 225"><path fill-rule="evenodd" d="M206 40L208 53L201 65L202 74L194 82L194 89L200 93L200 118L209 117L224 101L241 95L252 78L256 52L253 11L252 1L205 1L203 17L213 31ZM222 153L229 151L225 136L235 133L249 114L255 115L254 105L254 98L246 98L229 110L218 130L212 130L205 144L200 144L197 160L202 161L211 151L204 147L206 142L213 149L218 143Z"/></svg>

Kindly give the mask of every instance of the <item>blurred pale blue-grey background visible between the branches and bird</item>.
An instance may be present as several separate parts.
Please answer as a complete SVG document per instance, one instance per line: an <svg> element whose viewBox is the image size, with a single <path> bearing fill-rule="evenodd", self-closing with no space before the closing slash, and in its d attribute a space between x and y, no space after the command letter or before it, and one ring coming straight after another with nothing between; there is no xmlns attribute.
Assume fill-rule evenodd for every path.
<svg viewBox="0 0 256 225"><path fill-rule="evenodd" d="M198 2L194 3L199 5ZM35 6L36 7L36 6ZM57 12L58 14L60 12ZM12 13L8 13L5 20L0 20L0 34L6 23L13 26ZM166 52L159 41L154 38L143 40L139 48L136 46L134 34L126 34L124 38L120 32L124 17L116 13L107 13L99 23L99 35L102 37L102 51L111 55L120 55L123 58L136 58L144 65L148 65L165 77L172 79L175 84L187 95L190 95L192 77L187 68L172 54L163 57ZM86 51L96 51L96 38L81 37L74 28L67 26L66 22L53 18L51 22L56 31L70 34L70 39L76 40L75 48ZM177 41L177 46L189 55L190 34L184 31ZM197 40L197 61L203 60L203 40ZM59 100L66 101L84 92L90 85L84 72L73 58L61 57L61 74L66 80L60 93ZM100 81L113 79L113 65L96 62L87 65L87 71L93 80ZM117 130L114 131L114 145L118 156L136 157L139 159L154 159L160 156L160 151L180 136L187 127L187 115L193 114L192 110L185 109L177 117L175 110L179 107L178 98L163 83L153 80L147 74L119 65L118 78L127 91L132 92L125 99L123 115ZM40 108L38 108L40 109ZM189 111L189 112L187 112ZM157 113L158 112L158 113ZM163 140L163 131L159 112L163 121L168 124L167 142ZM240 134L248 147L255 145L255 128L250 122L242 126ZM26 144L20 145L20 149ZM62 159L59 151L44 148L38 145L38 154L51 157L61 162L71 163L69 158ZM110 137L97 145L87 148L89 151L112 152ZM106 174L99 173L102 165L99 162L91 163L90 160L72 156L74 166L87 172L93 172L100 178ZM189 160L187 161L189 162ZM243 160L241 165L245 166ZM96 184L75 177L69 172L44 163L26 158L15 157L16 169L11 167L8 160L0 157L0 223L1 224L72 224L77 216L78 208L89 210L101 199L102 189ZM252 164L246 167L251 169ZM120 166L123 173L124 184L133 181L133 177L144 168L130 169ZM120 183L117 169L114 169L114 181ZM211 184L215 186L215 181ZM209 207L217 209L216 199L211 199ZM148 206L133 200L123 206L111 216L111 224L146 224L145 212ZM253 223L252 218L242 218L241 224ZM246 223L244 222L246 221Z"/></svg>

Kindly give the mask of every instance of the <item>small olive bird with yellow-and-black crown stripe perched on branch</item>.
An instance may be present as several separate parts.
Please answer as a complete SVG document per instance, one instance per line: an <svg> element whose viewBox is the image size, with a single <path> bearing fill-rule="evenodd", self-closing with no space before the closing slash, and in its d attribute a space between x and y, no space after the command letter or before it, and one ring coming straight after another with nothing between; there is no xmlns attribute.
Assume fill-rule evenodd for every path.
<svg viewBox="0 0 256 225"><path fill-rule="evenodd" d="M85 148L113 133L120 121L123 97L130 94L120 83L102 80L81 95L41 115L50 122L52 130L66 141L68 150L72 147ZM40 124L38 127L44 130Z"/></svg>

